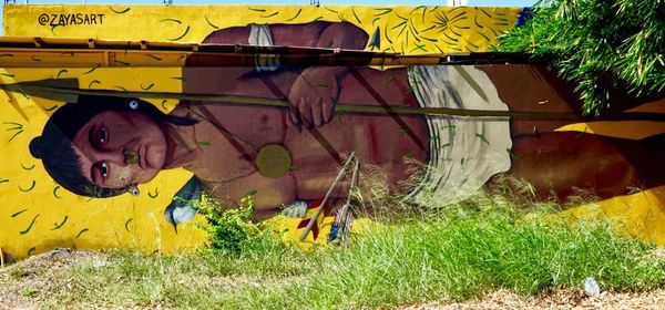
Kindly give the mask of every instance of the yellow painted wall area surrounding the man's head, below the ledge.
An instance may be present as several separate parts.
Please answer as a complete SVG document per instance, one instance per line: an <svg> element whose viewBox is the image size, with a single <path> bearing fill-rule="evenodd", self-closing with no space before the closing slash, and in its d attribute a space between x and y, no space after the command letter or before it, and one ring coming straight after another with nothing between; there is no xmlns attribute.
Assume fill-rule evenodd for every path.
<svg viewBox="0 0 665 310"><path fill-rule="evenodd" d="M178 69L12 69L2 71L3 83L76 76L83 87L106 86L141 90L154 83L155 91L181 87ZM133 71L133 72L132 72ZM131 76L127 79L127 76ZM94 81L100 81L94 82ZM129 247L146 251L172 251L195 247L204 235L192 224L178 234L164 220L164 207L183 186L190 173L166 170L142 186L139 197L121 195L112 199L76 196L54 183L41 161L28 152L28 144L41 134L49 115L60 102L0 91L6 103L0 113L0 245L4 252L22 257L53 247ZM11 96L11 100L10 97ZM172 107L173 102L164 105ZM161 106L161 104L158 105Z"/></svg>

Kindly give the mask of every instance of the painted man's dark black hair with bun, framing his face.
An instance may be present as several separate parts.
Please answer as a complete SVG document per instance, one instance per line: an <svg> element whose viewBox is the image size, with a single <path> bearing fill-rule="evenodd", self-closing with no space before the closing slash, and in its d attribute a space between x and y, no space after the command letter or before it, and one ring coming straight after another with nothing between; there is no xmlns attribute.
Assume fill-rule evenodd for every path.
<svg viewBox="0 0 665 310"><path fill-rule="evenodd" d="M76 195L104 198L127 192L127 187L105 188L92 184L81 170L81 158L72 145L79 130L104 111L143 112L155 121L181 126L191 126L198 122L188 116L164 114L154 105L139 99L81 95L76 103L66 103L47 121L42 135L30 142L30 153L42 159L47 173L58 184Z"/></svg>

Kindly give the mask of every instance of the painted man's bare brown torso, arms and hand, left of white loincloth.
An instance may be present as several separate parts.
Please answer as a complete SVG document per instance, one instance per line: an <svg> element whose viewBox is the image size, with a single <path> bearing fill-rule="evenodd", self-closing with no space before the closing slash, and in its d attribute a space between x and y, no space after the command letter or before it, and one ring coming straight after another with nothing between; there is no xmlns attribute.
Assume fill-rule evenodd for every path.
<svg viewBox="0 0 665 310"><path fill-rule="evenodd" d="M316 22L270 29L278 45L364 49L358 43L367 42L367 34L348 23ZM204 42L247 43L248 34L248 28L232 28L214 32ZM418 106L403 69L388 73L369 68L323 66L260 75L253 75L253 68L188 68L184 72L185 92L288 99L294 106L286 110L182 104L183 108L208 115L206 118L214 118L211 121L232 133L224 137L218 126L209 122L196 125L196 140L211 144L202 149L195 164L186 167L206 183L213 196L236 204L239 197L255 189L255 216L263 218L296 198L308 202L323 198L339 172L340 162L351 152L364 167L378 167L393 184L412 174L405 156L427 162L428 130L422 116L399 116L396 121L389 115L332 113L337 102ZM262 176L252 159L267 144L289 149L295 169L279 178ZM345 192L340 188L332 198L344 196Z"/></svg>

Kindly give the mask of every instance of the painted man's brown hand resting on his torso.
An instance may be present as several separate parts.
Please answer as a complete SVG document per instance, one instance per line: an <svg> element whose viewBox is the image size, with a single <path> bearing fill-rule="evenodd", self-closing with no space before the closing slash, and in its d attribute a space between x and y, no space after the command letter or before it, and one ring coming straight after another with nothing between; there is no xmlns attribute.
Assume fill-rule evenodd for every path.
<svg viewBox="0 0 665 310"><path fill-rule="evenodd" d="M309 128L330 122L339 97L337 71L334 66L317 66L300 73L288 94L291 125Z"/></svg>

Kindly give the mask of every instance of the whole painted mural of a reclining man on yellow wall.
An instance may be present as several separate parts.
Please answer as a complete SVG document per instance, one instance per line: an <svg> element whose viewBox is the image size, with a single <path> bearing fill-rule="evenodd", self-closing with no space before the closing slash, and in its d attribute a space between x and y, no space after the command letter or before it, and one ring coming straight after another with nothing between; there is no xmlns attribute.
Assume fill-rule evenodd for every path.
<svg viewBox="0 0 665 310"><path fill-rule="evenodd" d="M8 6L4 30L418 54L488 50L520 12L208 9ZM122 31L121 24L134 23L146 27ZM152 31L150 23L163 31ZM174 35L173 29L182 33ZM265 53L247 66L224 66L205 52L184 54L182 62L177 68L6 69L4 85L74 81L79 90L68 99L29 87L4 92L2 156L20 154L20 168L7 163L0 169L0 189L7 193L0 199L8 206L0 216L9 219L0 238L6 252L22 257L53 246L195 248L205 235L192 225L201 219L190 205L204 193L227 207L252 194L254 217L279 221L288 228L285 238L298 240L311 228L305 246L326 242L334 223L346 217L335 210L345 210L349 186L370 192L377 180L423 205L463 199L504 175L529 182L542 199L591 190L613 202L607 209L636 188L663 197L657 193L665 182L659 161L665 126L622 111L596 122L571 118L580 111L572 85L539 65L305 66ZM634 112L665 111L664 99L616 100L630 102ZM432 112L449 110L485 116ZM634 203L632 214L644 210L651 221L665 220L662 204L645 202ZM305 228L321 205L327 215ZM665 241L658 229L640 231Z"/></svg>

